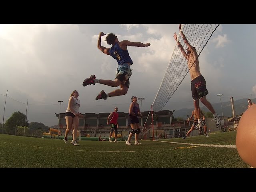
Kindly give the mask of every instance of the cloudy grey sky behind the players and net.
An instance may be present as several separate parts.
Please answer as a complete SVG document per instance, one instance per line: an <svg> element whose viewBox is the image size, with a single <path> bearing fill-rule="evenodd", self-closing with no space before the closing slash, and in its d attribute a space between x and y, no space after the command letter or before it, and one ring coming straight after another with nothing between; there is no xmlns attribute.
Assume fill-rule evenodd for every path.
<svg viewBox="0 0 256 192"><path fill-rule="evenodd" d="M118 66L97 48L100 32L113 32L119 41L151 45L128 46L133 60L128 93L96 101L101 90L116 88L83 87L82 82L92 74L114 80ZM128 112L132 96L145 98L138 103L142 111L149 111L176 45L174 32L179 32L178 24L0 24L0 123L3 115L6 122L20 111L27 112L29 122L57 125L54 113L66 112L74 90L79 92L80 113L112 112L115 106L118 112ZM102 46L110 48L105 37ZM234 100L256 97L255 44L255 24L218 26L199 57L209 102L220 103L217 94L223 94L222 102L231 96ZM162 110L193 108L190 83L187 74Z"/></svg>

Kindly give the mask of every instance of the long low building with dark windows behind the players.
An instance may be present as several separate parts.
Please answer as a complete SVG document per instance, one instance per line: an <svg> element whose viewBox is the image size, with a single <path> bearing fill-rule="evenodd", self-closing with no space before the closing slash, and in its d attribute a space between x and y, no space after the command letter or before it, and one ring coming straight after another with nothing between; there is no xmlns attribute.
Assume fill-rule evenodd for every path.
<svg viewBox="0 0 256 192"><path fill-rule="evenodd" d="M181 122L172 122L173 111L163 110L159 112L153 112L153 123L152 114L150 111L144 111L142 113L142 118L139 118L140 122L140 138L152 139L153 130L154 138L157 136L157 131L161 130L164 133L163 138L175 138L185 136L186 132L190 129L190 123L187 124L186 120ZM59 118L59 114L55 114ZM78 130L81 136L98 137L98 136L109 136L110 126L107 125L107 119L110 113L85 113L84 118L79 118ZM130 131L131 127L128 126L128 113L118 112L118 134L122 131ZM213 118L206 119L207 126L211 128L212 131L215 130L215 122L211 120ZM146 122L146 123L145 123ZM143 125L143 126L142 126ZM66 120L65 114L60 114L60 132L62 136L65 134L66 130ZM143 127L143 128L142 128ZM58 127L55 127L58 128ZM163 130L163 131L162 131ZM219 129L217 129L219 130ZM159 131L160 132L160 131ZM198 135L198 130L194 130L191 136Z"/></svg>

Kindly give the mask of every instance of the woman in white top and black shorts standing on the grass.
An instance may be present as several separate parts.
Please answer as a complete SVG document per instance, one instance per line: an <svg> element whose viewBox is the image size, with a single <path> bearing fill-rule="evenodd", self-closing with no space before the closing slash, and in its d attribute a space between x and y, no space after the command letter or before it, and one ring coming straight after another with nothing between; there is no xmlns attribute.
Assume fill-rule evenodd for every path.
<svg viewBox="0 0 256 192"><path fill-rule="evenodd" d="M73 127L73 140L70 142L73 145L79 145L76 140L79 117L84 117L82 114L79 113L80 100L78 99L78 96L78 91L74 90L68 100L68 108L65 113L67 128L64 136L64 142L68 142L68 133Z"/></svg>

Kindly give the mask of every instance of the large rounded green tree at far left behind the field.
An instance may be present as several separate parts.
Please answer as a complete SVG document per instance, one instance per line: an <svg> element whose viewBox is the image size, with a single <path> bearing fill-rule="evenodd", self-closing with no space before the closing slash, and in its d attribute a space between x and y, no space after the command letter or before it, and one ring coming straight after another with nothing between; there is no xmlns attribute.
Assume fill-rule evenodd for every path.
<svg viewBox="0 0 256 192"><path fill-rule="evenodd" d="M25 118L26 115L23 114L22 112L14 112L12 113L12 116L8 118L6 123L4 124L5 127L9 128L16 128L16 126L24 126L25 124ZM26 127L28 127L28 119L26 118Z"/></svg>

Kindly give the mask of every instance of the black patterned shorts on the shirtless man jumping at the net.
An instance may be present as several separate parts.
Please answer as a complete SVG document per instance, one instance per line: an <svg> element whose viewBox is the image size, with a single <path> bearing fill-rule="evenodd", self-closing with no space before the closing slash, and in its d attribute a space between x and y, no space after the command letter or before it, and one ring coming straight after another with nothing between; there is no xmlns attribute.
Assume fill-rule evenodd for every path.
<svg viewBox="0 0 256 192"><path fill-rule="evenodd" d="M193 101L196 101L208 94L208 90L206 89L206 81L202 75L194 78L191 81L191 92Z"/></svg>

